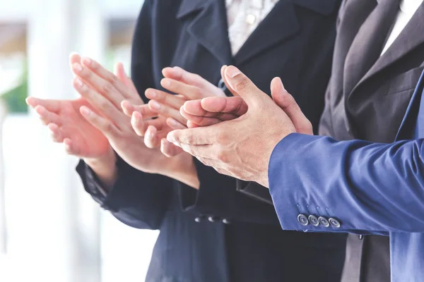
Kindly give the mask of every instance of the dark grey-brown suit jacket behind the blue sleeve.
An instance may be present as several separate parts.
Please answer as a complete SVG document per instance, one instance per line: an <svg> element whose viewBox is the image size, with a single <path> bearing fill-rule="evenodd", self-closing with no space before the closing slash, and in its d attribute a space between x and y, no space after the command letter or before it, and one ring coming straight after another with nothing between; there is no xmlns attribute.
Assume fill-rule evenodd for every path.
<svg viewBox="0 0 424 282"><path fill-rule="evenodd" d="M391 47L375 60L372 54L381 54L384 44L365 40L355 49L353 42L361 28L368 29L372 39L387 38L390 30L373 31L365 26L380 4L384 1L343 1L320 135L336 140L395 140L424 68L424 4ZM386 14L390 23L394 23L398 7ZM358 271L361 266L362 271ZM349 235L342 281L390 281L389 238Z"/></svg>

